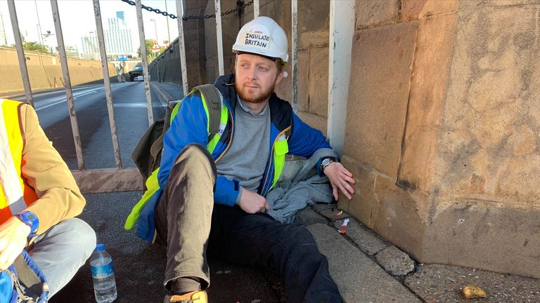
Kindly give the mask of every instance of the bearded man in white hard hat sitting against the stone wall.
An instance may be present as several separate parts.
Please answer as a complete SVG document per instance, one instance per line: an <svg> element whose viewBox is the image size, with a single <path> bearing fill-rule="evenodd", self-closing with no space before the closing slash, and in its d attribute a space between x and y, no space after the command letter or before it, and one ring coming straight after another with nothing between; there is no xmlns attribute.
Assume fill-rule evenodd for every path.
<svg viewBox="0 0 540 303"><path fill-rule="evenodd" d="M330 148L321 131L274 93L288 59L285 32L271 18L256 18L240 29L233 50L236 74L214 83L222 97L219 133L208 137L210 109L200 93L181 102L165 134L160 189L139 218L139 236L167 245L165 302L207 301L207 250L228 262L273 269L289 302L342 302L309 231L266 213L265 196L285 154L310 157ZM352 198L352 173L338 159L319 164L335 198L338 190Z"/></svg>

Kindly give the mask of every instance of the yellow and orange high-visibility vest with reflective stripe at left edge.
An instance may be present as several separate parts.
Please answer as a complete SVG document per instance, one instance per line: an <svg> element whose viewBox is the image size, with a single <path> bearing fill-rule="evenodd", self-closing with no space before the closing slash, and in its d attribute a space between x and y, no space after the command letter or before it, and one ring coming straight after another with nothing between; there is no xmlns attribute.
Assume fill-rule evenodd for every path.
<svg viewBox="0 0 540 303"><path fill-rule="evenodd" d="M23 102L0 99L0 224L25 210L37 200L37 194L21 174L23 164Z"/></svg>

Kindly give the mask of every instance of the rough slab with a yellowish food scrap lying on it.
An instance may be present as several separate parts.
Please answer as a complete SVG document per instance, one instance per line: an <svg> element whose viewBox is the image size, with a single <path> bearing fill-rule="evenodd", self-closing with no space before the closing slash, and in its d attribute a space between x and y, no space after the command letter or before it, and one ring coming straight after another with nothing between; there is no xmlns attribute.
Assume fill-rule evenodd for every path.
<svg viewBox="0 0 540 303"><path fill-rule="evenodd" d="M540 281L491 271L441 264L420 264L407 285L425 302L540 302ZM465 299L463 287L480 286L487 298Z"/></svg>

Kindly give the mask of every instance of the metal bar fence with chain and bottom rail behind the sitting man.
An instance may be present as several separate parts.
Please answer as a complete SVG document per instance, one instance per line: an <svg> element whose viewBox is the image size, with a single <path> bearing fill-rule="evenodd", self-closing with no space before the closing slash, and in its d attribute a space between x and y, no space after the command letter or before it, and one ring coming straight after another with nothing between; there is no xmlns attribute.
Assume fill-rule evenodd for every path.
<svg viewBox="0 0 540 303"><path fill-rule="evenodd" d="M75 104L73 102L72 86L70 82L70 72L68 69L67 56L65 52L65 45L63 41L62 25L60 23L60 14L58 11L57 0L51 1L51 9L53 12L54 25L56 29L56 39L58 41L58 50L60 53L60 63L62 67L63 78L65 79L65 94L68 100L68 107L70 112L70 122L72 127L73 139L75 142L75 152L77 154L77 166L78 170L73 171L73 175L84 193L97 193L97 192L113 192L113 191L134 191L143 189L143 180L139 171L136 168L124 168L122 166L122 159L120 157L120 145L118 144L115 112L113 109L113 95L110 88L110 79L108 73L107 54L105 53L105 39L103 37L103 23L101 20L101 8L99 0L93 0L94 2L94 15L96 19L96 32L98 35L99 51L101 55L101 65L103 67L103 79L105 84L105 97L107 100L108 117L110 122L110 133L113 139L113 149L115 154L115 168L95 169L87 170L84 166L84 159L82 156L82 144L79 135L79 127L77 124L77 114L75 113ZM178 48L179 56L177 59L165 58L164 53L158 56L159 60L155 60L153 67L155 71L154 80L160 81L163 76L167 76L169 79L181 79L184 92L188 91L188 76L186 69L186 48L184 43L184 20L201 18L201 16L186 16L184 17L183 8L185 7L185 0L176 0L176 16L182 16L182 18L176 18L175 15L167 12L162 12L149 6L143 6L141 0L122 0L131 5L136 6L136 14L139 25L139 39L141 42L141 59L143 65L143 78L144 78L144 90L146 95L146 105L148 112L148 125L153 123L153 110L150 97L150 77L148 72L148 61L146 56L146 45L144 36L144 24L143 24L143 8L147 11L154 13L160 13L167 16L167 18L174 18L177 20L179 37L175 39L174 43L171 43L169 48L165 52L176 52ZM351 60L351 46L352 35L354 32L354 2L355 1L330 1L330 60L329 60L329 85L328 85L328 137L330 143L342 151L343 140L345 137L344 123L334 123L334 121L345 121L345 108L347 105L347 91L349 86L349 66ZM253 0L248 5L253 4L255 18L259 15L259 0ZM245 5L247 6L247 5ZM292 81L293 81L293 109L296 112L297 109L297 0L291 0L291 15L292 15ZM23 50L23 41L20 35L20 29L18 26L18 17L15 10L15 0L8 0L8 8L11 16L11 23L13 26L13 35L15 36L15 48L18 53L18 61L20 65L20 72L23 77L23 86L25 88L26 102L30 105L34 105L32 98L32 88L30 86L30 80L27 72L27 65L25 59L25 51ZM217 32L217 50L218 50L218 62L219 62L219 74L224 74L224 57L223 57L223 43L221 41L221 15L231 13L227 11L221 13L220 0L214 0L215 14L210 16L203 16L203 18L216 18L216 32ZM178 60L179 58L179 60ZM160 62L161 61L161 62ZM173 62L174 61L174 62ZM178 62L179 61L179 62ZM170 65L180 66L181 73L177 74L176 69L171 69ZM168 69L167 69L168 68ZM176 74L174 76L173 74Z"/></svg>

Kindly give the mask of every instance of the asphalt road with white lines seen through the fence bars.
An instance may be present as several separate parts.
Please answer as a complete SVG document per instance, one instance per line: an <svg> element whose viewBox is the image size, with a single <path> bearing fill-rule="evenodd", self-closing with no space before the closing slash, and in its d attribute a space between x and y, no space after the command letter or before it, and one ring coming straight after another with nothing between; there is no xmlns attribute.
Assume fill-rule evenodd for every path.
<svg viewBox="0 0 540 303"><path fill-rule="evenodd" d="M134 167L129 155L139 137L148 128L144 84L113 83L111 89L122 166ZM73 95L85 168L114 168L113 140L103 85L79 86L73 88ZM25 97L11 98L24 100ZM153 103L154 116L162 117L165 112L158 98L153 97L153 100L156 101ZM34 93L34 107L41 128L68 166L76 170L77 156L65 90Z"/></svg>

